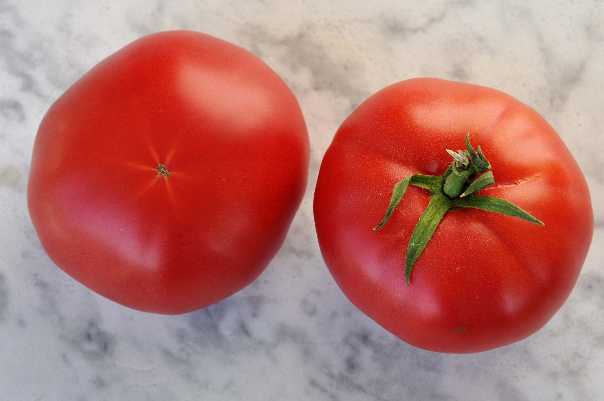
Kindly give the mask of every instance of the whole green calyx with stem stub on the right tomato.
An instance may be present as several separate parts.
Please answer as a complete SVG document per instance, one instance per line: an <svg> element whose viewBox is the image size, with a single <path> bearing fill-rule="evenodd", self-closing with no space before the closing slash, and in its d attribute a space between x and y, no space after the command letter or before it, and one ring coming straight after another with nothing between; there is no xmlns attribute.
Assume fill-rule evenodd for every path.
<svg viewBox="0 0 604 401"><path fill-rule="evenodd" d="M428 207L411 233L405 260L405 280L407 285L411 269L423 249L426 248L432 234L439 226L440 220L451 208L477 208L494 213L520 217L528 222L544 225L541 221L528 214L512 202L499 197L476 195L489 185L495 184L495 178L490 170L490 163L478 146L478 152L470 144L470 133L466 134L467 150L446 151L452 156L453 162L441 176L413 174L406 176L394 185L390 204L384 220L374 230L382 228L390 219L394 209L402 199L409 185L416 185L432 193ZM480 175L479 175L480 174Z"/></svg>

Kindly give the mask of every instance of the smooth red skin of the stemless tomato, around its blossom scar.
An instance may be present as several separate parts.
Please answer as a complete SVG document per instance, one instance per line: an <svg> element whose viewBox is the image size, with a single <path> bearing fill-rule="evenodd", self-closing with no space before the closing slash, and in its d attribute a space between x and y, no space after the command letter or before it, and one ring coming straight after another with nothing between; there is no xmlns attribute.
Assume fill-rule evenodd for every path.
<svg viewBox="0 0 604 401"><path fill-rule="evenodd" d="M133 309L185 313L266 268L308 161L300 106L274 71L232 43L168 31L104 59L50 107L28 207L71 277Z"/></svg>

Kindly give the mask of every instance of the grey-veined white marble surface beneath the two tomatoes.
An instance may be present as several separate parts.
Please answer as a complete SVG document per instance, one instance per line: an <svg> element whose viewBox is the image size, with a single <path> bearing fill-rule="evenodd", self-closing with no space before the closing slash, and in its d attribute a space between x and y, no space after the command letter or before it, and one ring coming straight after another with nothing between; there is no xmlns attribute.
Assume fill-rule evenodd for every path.
<svg viewBox="0 0 604 401"><path fill-rule="evenodd" d="M104 57L171 29L229 40L275 69L312 153L306 197L266 271L214 306L161 316L60 271L25 188L50 104ZM603 65L599 0L0 2L0 400L603 400ZM335 130L369 95L420 76L534 107L590 184L596 231L577 286L524 341L413 348L353 307L321 258L312 196Z"/></svg>

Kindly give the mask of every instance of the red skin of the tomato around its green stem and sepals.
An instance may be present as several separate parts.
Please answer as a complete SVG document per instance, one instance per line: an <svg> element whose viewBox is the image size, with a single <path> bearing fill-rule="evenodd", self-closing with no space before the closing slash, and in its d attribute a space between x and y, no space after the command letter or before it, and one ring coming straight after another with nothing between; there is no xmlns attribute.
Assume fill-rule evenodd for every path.
<svg viewBox="0 0 604 401"><path fill-rule="evenodd" d="M545 223L448 211L405 283L411 232L430 193L410 185L383 228L394 185L442 175L470 133L501 197ZM532 178L532 179L531 179ZM530 181L517 184L522 180ZM405 342L471 353L539 330L576 283L593 234L590 193L561 138L515 98L467 83L413 79L377 92L339 127L315 190L316 233L344 294Z"/></svg>

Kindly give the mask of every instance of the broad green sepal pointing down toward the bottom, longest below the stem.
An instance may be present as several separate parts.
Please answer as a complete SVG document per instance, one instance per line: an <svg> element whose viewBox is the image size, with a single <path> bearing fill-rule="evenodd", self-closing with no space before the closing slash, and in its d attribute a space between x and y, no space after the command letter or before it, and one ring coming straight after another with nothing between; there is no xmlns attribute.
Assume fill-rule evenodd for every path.
<svg viewBox="0 0 604 401"><path fill-rule="evenodd" d="M440 220L445 216L445 213L452 207L453 199L445 196L442 193L435 192L430 199L430 203L426 210L423 211L422 217L411 233L409 246L407 247L407 255L405 261L405 281L409 285L409 277L411 269L426 244L432 238L432 234L439 226Z"/></svg>

